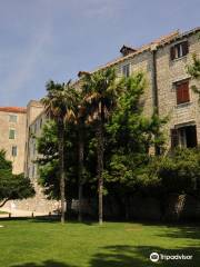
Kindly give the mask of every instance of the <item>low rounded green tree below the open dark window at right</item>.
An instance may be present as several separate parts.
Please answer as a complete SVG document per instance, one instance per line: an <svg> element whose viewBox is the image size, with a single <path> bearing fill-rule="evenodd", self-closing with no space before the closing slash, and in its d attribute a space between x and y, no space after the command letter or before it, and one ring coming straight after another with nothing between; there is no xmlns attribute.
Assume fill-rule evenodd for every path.
<svg viewBox="0 0 200 267"><path fill-rule="evenodd" d="M138 177L139 190L160 201L162 218L170 195L200 194L200 150L177 148L170 154L151 157Z"/></svg>

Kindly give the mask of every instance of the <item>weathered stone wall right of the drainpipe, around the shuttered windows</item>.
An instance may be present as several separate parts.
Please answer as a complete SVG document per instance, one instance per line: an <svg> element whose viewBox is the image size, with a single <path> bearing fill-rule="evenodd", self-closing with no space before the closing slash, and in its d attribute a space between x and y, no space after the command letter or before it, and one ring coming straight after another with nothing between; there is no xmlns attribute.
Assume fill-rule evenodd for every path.
<svg viewBox="0 0 200 267"><path fill-rule="evenodd" d="M174 82L190 79L187 73L187 65L192 63L193 53L200 56L198 33L190 36L187 40L189 42L189 53L182 58L170 59L170 47L174 42L160 48L157 55L159 115L161 117L169 116L169 122L164 127L168 145L170 142L170 129L177 125L192 121L197 125L198 142L200 142L200 107L197 93L190 89L190 102L177 105ZM190 87L194 83L200 87L200 82L189 80Z"/></svg>

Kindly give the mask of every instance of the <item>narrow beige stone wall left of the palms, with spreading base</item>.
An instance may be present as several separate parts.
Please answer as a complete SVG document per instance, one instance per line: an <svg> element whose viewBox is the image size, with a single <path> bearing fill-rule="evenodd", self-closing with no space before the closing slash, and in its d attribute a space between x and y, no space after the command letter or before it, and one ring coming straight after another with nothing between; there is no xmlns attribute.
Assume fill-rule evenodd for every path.
<svg viewBox="0 0 200 267"><path fill-rule="evenodd" d="M38 101L30 101L28 105L28 123L27 123L27 150L26 150L26 175L34 185L36 197L27 200L17 201L19 209L26 209L38 212L52 212L60 208L60 202L48 200L42 192L41 186L38 185L38 158L37 137L41 135L42 126L47 120L43 112L43 106Z"/></svg>

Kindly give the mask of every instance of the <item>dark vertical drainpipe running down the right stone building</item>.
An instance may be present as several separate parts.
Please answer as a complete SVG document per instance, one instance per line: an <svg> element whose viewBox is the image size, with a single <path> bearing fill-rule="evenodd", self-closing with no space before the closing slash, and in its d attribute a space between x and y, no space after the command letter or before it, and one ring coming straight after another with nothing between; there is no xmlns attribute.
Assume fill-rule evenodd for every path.
<svg viewBox="0 0 200 267"><path fill-rule="evenodd" d="M151 46L152 66L151 66L151 82L152 82L152 108L153 112L159 115L158 99L158 81L157 81L157 44ZM154 154L160 155L160 147L154 145Z"/></svg>

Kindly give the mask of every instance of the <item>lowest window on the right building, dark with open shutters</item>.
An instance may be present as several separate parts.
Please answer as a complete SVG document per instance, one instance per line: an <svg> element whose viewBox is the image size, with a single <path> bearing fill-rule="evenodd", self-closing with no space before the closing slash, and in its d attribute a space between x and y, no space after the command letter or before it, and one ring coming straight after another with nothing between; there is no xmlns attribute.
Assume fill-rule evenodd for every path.
<svg viewBox="0 0 200 267"><path fill-rule="evenodd" d="M177 129L171 129L171 148L174 147L197 147L197 127L184 126Z"/></svg>

